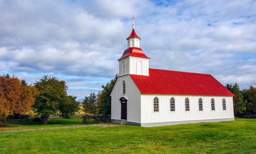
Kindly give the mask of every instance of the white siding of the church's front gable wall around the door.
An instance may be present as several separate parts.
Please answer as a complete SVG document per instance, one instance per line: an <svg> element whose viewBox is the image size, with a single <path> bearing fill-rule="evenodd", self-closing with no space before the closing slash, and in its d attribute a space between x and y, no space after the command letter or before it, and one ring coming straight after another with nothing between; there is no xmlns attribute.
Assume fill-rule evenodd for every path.
<svg viewBox="0 0 256 154"><path fill-rule="evenodd" d="M123 80L125 80L126 94L123 92ZM127 121L141 122L141 92L138 90L130 75L118 77L111 93L111 119L121 119L120 98L126 97Z"/></svg>

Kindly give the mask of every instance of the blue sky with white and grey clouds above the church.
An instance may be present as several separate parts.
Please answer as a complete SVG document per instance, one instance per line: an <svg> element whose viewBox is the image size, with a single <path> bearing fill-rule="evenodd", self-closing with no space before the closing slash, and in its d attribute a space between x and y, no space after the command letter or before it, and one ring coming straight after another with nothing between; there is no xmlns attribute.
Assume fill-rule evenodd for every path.
<svg viewBox="0 0 256 154"><path fill-rule="evenodd" d="M82 100L118 73L132 15L150 68L256 86L256 0L0 0L0 75Z"/></svg>

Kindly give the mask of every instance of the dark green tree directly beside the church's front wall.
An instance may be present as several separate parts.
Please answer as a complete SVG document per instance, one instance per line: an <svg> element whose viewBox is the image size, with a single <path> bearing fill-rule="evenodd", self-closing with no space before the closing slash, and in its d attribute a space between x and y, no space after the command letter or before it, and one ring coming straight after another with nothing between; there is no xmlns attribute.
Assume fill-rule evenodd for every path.
<svg viewBox="0 0 256 154"><path fill-rule="evenodd" d="M115 82L118 79L118 75L115 75L114 79L111 79L105 86L101 87L103 90L98 92L97 104L99 107L99 112L105 115L111 114L111 92L115 86Z"/></svg>

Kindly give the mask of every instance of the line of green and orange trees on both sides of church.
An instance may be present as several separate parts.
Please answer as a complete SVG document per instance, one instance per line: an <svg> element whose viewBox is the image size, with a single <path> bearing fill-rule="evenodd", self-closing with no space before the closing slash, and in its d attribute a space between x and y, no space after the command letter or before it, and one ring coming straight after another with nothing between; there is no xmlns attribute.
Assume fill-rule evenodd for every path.
<svg viewBox="0 0 256 154"><path fill-rule="evenodd" d="M83 111L87 114L111 114L110 93L118 75L111 79L97 94L91 93L84 97ZM256 114L256 88L242 89L237 83L225 86L235 96L233 97L234 114L242 117L246 114ZM80 109L76 97L67 94L66 82L56 77L44 76L34 84L10 75L0 76L0 126L17 114L34 113L40 115L43 124L47 124L50 114L61 113L65 118L71 118Z"/></svg>

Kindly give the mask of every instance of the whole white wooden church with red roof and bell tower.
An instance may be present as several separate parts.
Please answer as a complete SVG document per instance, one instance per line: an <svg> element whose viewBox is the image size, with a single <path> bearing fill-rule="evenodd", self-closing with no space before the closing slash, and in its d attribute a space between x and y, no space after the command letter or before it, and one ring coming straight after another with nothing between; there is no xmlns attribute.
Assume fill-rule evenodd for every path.
<svg viewBox="0 0 256 154"><path fill-rule="evenodd" d="M133 30L110 94L111 121L142 127L234 120L233 94L212 75L151 69Z"/></svg>

